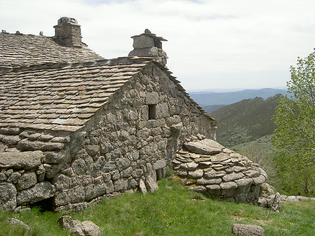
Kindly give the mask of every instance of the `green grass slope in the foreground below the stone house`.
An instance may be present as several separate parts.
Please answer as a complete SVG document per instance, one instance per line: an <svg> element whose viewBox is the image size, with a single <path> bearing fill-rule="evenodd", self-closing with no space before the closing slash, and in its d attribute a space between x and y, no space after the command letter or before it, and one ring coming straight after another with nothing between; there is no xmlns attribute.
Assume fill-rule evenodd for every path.
<svg viewBox="0 0 315 236"><path fill-rule="evenodd" d="M101 228L102 236L232 236L234 223L262 226L265 236L315 235L313 201L284 203L280 214L271 213L267 218L269 210L261 207L214 200L171 180L160 180L158 185L154 193L126 193L67 215L93 221ZM57 224L62 215L39 212L38 208L20 214L0 212L0 236L68 236ZM5 217L22 220L33 231L10 226Z"/></svg>

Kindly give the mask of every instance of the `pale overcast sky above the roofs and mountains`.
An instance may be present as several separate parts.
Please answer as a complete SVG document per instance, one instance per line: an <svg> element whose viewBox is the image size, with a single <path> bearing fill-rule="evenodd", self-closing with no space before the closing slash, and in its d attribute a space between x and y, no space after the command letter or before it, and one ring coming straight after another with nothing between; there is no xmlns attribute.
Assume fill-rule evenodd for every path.
<svg viewBox="0 0 315 236"><path fill-rule="evenodd" d="M315 48L315 0L0 0L0 29L46 36L61 16L106 59L148 28L186 90L284 87Z"/></svg>

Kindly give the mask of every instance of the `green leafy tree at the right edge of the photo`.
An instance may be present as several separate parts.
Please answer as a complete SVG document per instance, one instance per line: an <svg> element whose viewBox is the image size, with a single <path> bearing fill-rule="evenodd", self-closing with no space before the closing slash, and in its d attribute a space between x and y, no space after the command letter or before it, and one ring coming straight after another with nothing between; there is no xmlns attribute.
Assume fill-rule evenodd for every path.
<svg viewBox="0 0 315 236"><path fill-rule="evenodd" d="M280 98L272 143L279 155L282 173L290 175L287 188L312 195L315 189L315 52L290 67L287 95ZM311 180L311 181L309 181Z"/></svg>

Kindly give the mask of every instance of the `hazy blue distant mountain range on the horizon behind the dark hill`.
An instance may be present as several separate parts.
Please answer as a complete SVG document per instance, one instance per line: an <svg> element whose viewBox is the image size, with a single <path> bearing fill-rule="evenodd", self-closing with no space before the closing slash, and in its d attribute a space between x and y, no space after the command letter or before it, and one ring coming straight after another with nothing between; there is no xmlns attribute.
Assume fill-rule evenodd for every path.
<svg viewBox="0 0 315 236"><path fill-rule="evenodd" d="M272 97L278 93L285 95L287 91L285 89L245 89L241 91L233 92L213 92L213 91L200 91L190 92L189 96L205 110L210 105L229 105L235 102L239 102L243 99L252 99L255 97L261 97L266 99ZM224 105L223 105L224 104ZM207 109L207 112L211 112L214 108Z"/></svg>

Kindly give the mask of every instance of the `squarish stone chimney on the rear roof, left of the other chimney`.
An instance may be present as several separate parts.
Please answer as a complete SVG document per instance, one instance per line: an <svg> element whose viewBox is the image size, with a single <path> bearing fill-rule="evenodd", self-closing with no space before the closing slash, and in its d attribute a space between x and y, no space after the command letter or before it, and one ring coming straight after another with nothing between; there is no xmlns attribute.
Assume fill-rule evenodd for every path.
<svg viewBox="0 0 315 236"><path fill-rule="evenodd" d="M82 47L81 26L78 21L70 17L62 17L58 25L54 26L55 37L68 47Z"/></svg>

